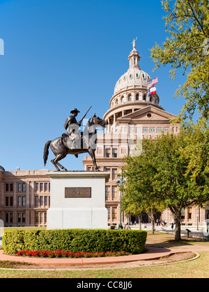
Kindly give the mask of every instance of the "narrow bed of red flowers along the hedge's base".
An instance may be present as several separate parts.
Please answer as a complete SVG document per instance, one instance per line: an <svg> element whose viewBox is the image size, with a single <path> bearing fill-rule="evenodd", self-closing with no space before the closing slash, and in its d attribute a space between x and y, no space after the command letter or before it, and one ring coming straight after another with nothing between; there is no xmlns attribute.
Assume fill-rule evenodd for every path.
<svg viewBox="0 0 209 292"><path fill-rule="evenodd" d="M49 250L31 251L21 250L17 252L17 256L29 256L29 257L70 257L77 259L79 257L118 257L123 255L129 255L129 252L68 252L66 250L56 250L56 252L49 252Z"/></svg>

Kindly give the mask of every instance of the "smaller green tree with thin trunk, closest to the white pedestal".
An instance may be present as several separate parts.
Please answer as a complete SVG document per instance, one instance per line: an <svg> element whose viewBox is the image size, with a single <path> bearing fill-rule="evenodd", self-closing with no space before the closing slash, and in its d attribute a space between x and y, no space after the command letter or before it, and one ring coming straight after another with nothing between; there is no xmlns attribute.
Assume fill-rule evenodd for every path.
<svg viewBox="0 0 209 292"><path fill-rule="evenodd" d="M146 142L149 140L146 140ZM141 143L137 143L141 154ZM150 163L150 148L146 149L142 156L127 156L123 172L126 177L125 187L123 186L122 210L127 214L141 216L147 213L151 220L152 234L154 234L155 218L157 212L162 212L165 209L162 201L157 200L153 184L150 184L150 179L153 177L155 169ZM152 153L153 154L153 153ZM141 159L143 157L143 159Z"/></svg>

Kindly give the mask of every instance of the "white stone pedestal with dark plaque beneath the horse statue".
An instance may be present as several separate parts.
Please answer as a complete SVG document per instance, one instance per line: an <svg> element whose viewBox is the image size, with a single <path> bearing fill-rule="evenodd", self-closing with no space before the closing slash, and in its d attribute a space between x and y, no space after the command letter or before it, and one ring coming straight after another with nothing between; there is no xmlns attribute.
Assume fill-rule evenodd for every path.
<svg viewBox="0 0 209 292"><path fill-rule="evenodd" d="M48 172L47 229L107 229L107 172Z"/></svg>

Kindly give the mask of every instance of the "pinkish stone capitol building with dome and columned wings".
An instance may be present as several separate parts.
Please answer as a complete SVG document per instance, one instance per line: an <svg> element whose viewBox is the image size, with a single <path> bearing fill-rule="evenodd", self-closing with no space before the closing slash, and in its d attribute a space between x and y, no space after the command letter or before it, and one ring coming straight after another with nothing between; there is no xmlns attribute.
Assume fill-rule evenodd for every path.
<svg viewBox="0 0 209 292"><path fill-rule="evenodd" d="M139 66L139 52L133 42L128 56L129 68L114 88L109 101L109 110L104 113L108 126L104 133L98 133L96 159L100 170L109 172L106 184L106 207L109 225L124 225L127 220L134 222L138 218L121 214L121 193L116 184L117 174L121 173L123 156L134 154L137 140L154 139L162 132L179 132L179 124L171 124L175 115L167 113L160 106L160 97L148 96L150 76ZM84 170L92 171L90 156L84 158ZM0 166L0 219L4 226L45 226L47 209L50 206L50 181L46 173L49 170L6 171ZM199 225L208 218L209 211L189 206L182 212L183 225ZM161 220L173 222L170 211L159 214ZM144 216L144 222L148 217Z"/></svg>

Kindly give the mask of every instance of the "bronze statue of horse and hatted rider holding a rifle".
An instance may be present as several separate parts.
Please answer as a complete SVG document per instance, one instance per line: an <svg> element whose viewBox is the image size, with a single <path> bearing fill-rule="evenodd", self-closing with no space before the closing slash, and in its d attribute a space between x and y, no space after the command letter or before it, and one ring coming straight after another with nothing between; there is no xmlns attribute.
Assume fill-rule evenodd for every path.
<svg viewBox="0 0 209 292"><path fill-rule="evenodd" d="M90 107L91 108L91 107ZM90 110L88 108L88 111ZM86 112L86 114L88 113ZM93 165L95 171L100 171L95 159L95 149L96 149L96 141L97 141L97 127L105 127L107 125L107 121L100 119L95 114L91 119L86 123L84 132L79 130L79 127L82 124L82 120L86 117L82 117L82 120L77 122L76 117L77 114L80 113L77 108L73 108L70 111L72 115L69 115L64 123L64 128L67 133L63 133L61 137L56 138L54 140L49 140L45 144L44 149L44 163L46 165L47 158L49 155L49 146L52 149L52 152L56 156L55 159L52 159L51 162L55 166L57 171L60 171L61 168L63 171L68 171L63 167L58 161L64 159L67 154L73 154L78 157L78 154L88 153L91 156L93 161Z"/></svg>

